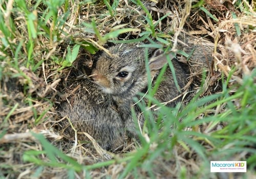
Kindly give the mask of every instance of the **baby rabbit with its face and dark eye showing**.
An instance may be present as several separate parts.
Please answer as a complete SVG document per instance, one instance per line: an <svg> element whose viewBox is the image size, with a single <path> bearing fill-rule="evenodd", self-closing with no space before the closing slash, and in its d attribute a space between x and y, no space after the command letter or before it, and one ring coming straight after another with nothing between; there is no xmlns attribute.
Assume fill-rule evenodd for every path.
<svg viewBox="0 0 256 179"><path fill-rule="evenodd" d="M130 132L130 135L136 136L135 125L131 116L131 106L134 103L134 96L138 95L139 92L145 93L147 91L145 50L137 47L136 44L130 43L118 44L111 47L109 51L113 56L103 52L96 62L95 69L92 71L92 79L100 86L102 92L113 97L126 130ZM157 78L161 68L167 63L167 59L160 50L154 53L150 49L148 52L151 55L148 65L153 78L152 86L154 87L154 79ZM170 59L173 58L172 55L168 55ZM176 59L173 59L172 63L179 86L183 88L187 83L187 71ZM154 97L160 102L166 102L179 94L172 72L167 68ZM177 100L167 105L174 106L176 103ZM137 112L139 113L138 107ZM142 125L143 122L144 118L140 118L139 124Z"/></svg>

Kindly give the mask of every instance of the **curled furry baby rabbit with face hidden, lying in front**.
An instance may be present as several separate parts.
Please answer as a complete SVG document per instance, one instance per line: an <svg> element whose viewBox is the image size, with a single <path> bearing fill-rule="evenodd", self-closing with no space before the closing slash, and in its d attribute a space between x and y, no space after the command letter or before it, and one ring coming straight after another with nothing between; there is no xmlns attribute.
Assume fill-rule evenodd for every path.
<svg viewBox="0 0 256 179"><path fill-rule="evenodd" d="M77 132L89 133L103 149L113 151L121 146L125 131L111 96L103 93L98 85L88 79L70 83L72 84L70 103L62 102L59 105L61 116L67 116ZM68 126L66 133L74 136L71 126ZM83 133L78 134L77 137L80 141L88 141Z"/></svg>

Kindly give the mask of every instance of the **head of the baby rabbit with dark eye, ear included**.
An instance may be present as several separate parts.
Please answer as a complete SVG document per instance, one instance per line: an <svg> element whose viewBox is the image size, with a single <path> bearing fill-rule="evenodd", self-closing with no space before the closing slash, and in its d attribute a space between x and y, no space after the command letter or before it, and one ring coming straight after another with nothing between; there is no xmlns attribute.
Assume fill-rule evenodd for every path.
<svg viewBox="0 0 256 179"><path fill-rule="evenodd" d="M92 71L92 79L101 86L104 93L131 98L147 87L145 50L136 44L118 44L109 49L112 56L103 52ZM148 50L149 55L153 50ZM154 75L167 63L165 55L156 50L149 60L151 74ZM173 58L173 57L170 57Z"/></svg>

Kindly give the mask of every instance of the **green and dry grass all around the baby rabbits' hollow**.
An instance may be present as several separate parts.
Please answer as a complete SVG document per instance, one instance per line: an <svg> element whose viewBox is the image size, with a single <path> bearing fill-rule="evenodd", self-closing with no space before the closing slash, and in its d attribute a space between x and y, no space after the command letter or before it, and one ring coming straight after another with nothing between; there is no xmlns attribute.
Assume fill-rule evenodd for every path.
<svg viewBox="0 0 256 179"><path fill-rule="evenodd" d="M255 5L189 3L1 1L0 177L219 178L209 172L210 161L219 160L247 161L240 176L255 176ZM119 152L65 139L55 110L59 79L82 53L152 38L168 51L180 27L215 44L207 73L192 68L193 99L169 108L147 95L161 106L159 118L139 103L146 117L140 143Z"/></svg>

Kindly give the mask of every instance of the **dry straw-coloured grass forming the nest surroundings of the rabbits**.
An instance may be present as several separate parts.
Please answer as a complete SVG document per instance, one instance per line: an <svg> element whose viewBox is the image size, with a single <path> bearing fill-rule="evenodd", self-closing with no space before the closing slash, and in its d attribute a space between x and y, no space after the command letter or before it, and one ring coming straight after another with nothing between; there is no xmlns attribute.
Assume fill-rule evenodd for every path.
<svg viewBox="0 0 256 179"><path fill-rule="evenodd" d="M59 93L56 87L60 85L61 78L68 78L70 69L59 70L59 65L54 63L51 57L65 58L67 55L66 46L70 44L70 39L91 43L99 50L105 50L106 47L112 45L112 42L107 42L98 37L104 37L118 29L133 28L134 30L120 34L112 40L138 39L141 32L150 28L143 17L146 16L146 9L151 14L154 23L168 14L159 22L156 29L165 34L163 38L172 41L173 50L179 47L178 37L181 34L192 36L199 44L203 40L207 40L208 45L212 47L213 50L210 55L213 60L204 63L203 69L207 71L204 86L200 86L203 73L202 63L200 61L190 62L190 83L194 84L194 94L202 87L201 97L221 92L221 74L224 74L224 78L229 79L228 86L241 85L244 76L251 75L256 66L256 18L253 7L249 3L248 7L250 7L251 14L241 12L234 6L234 2L205 1L204 9L207 9L210 14L214 14L212 18L197 8L196 3L192 5L189 1L160 0L158 3L143 1L145 9L133 3L127 3L127 1L119 1L115 11L112 11L112 15L103 1L97 1L93 4L82 4L76 1L72 3L70 4L70 15L62 31L59 32L60 40L49 40L44 35L38 35L34 48L34 54L37 55L34 55L34 58L40 65L36 70L29 69L28 66L20 66L27 60L23 59L23 61L16 61L17 65L20 66L19 71L17 71L13 68L13 59L10 58L12 54L10 55L11 52L8 52L8 48L7 53L9 55L1 52L5 61L0 62L1 69L3 69L0 94L0 124L4 124L0 125L0 130L3 131L3 137L0 139L0 161L5 164L5 169L10 171L5 174L8 178L27 178L36 172L33 163L24 162L24 152L26 153L29 150L40 151L42 145L41 141L34 138L29 131L43 133L54 146L84 165L92 165L113 158L118 161L119 158L122 158L123 153L136 149L136 142L129 140L127 140L124 149L115 154L102 150L93 139L91 141L95 148L87 148L79 144L74 146L61 131L56 130L63 127L60 126L59 121L66 120L60 119L55 110L58 103L56 96ZM33 13L40 14L45 8L44 6L38 6L38 9ZM58 9L58 15L61 16L62 13L62 9ZM14 43L25 40L21 49L24 54L29 56L29 52L26 50L26 44L29 42L26 16L22 13L12 13L11 15L13 15L15 26L18 27ZM84 27L83 23L90 24L92 21L97 25L99 36L89 33L86 28L81 28ZM51 20L48 21L48 26L53 27ZM152 38L159 37L159 31ZM84 47L87 47L88 43ZM182 56L178 56L178 58L181 61L184 60ZM78 59L87 59L83 63L90 67L94 54L87 50L81 50ZM74 62L74 66L79 66L78 61ZM231 72L232 75L230 76ZM253 80L255 83L256 79ZM230 93L235 92L236 88L233 88ZM240 103L237 102L237 105L240 105ZM218 110L224 110L224 106ZM209 114L212 113L214 111L209 111ZM207 113L204 115L207 115ZM200 116L198 119L200 119ZM219 124L216 128L223 127L222 125L225 124ZM201 126L198 130L204 132L206 128L207 124ZM203 141L201 144L205 148L211 148ZM154 146L151 150L154 151ZM166 155L173 154L172 159L159 158L153 162L156 169L152 173L156 177L178 177L177 173L182 167L186 168L185 175L187 177L193 177L200 171L200 165L198 165L200 158L195 151L189 152L183 146L177 145L173 151L166 153ZM44 158L44 154L41 155L41 159L47 160L47 158ZM61 163L61 159L58 162ZM121 162L111 164L108 167L95 167L97 169L92 167L90 176L107 177L111 175L115 178L124 170L125 165L125 162ZM145 168L138 168L137 172L139 175L150 177ZM67 171L62 168L47 166L41 169L40 175L42 178L65 178L67 177ZM85 177L86 175L86 172L81 172L76 177ZM133 177L133 175L127 174L126 177Z"/></svg>

